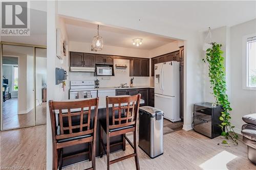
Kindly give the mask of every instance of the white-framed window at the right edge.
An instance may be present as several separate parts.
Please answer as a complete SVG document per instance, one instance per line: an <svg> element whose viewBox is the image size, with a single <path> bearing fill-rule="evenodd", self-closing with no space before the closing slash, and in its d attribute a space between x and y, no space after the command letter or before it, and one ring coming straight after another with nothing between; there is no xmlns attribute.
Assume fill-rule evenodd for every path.
<svg viewBox="0 0 256 170"><path fill-rule="evenodd" d="M256 90L256 34L244 37L244 89Z"/></svg>

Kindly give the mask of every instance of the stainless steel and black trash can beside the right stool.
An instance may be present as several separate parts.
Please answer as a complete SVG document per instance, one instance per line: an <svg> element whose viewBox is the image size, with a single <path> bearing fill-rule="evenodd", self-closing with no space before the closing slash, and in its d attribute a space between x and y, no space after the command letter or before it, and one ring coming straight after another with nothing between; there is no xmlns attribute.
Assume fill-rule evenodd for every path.
<svg viewBox="0 0 256 170"><path fill-rule="evenodd" d="M139 147L151 158L163 154L163 111L139 108Z"/></svg>

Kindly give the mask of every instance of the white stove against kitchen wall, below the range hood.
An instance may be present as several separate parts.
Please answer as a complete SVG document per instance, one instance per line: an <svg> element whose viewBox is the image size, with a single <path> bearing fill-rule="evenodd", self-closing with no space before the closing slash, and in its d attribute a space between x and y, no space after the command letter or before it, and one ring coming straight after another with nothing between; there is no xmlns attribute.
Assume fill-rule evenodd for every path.
<svg viewBox="0 0 256 170"><path fill-rule="evenodd" d="M96 98L94 80L70 81L69 99Z"/></svg>

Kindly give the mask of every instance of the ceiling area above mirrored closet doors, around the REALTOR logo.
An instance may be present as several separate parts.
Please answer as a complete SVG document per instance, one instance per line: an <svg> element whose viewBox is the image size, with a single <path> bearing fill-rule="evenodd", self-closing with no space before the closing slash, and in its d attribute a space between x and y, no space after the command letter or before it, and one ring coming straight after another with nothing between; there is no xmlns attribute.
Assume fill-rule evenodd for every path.
<svg viewBox="0 0 256 170"><path fill-rule="evenodd" d="M30 1L30 36L1 36L1 41L46 45L46 11L46 1Z"/></svg>

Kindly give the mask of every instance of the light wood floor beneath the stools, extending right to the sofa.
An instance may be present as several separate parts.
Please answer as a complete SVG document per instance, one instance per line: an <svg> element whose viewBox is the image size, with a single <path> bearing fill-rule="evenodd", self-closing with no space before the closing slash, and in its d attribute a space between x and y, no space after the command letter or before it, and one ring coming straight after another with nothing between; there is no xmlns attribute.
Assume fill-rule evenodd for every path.
<svg viewBox="0 0 256 170"><path fill-rule="evenodd" d="M164 135L163 155L151 159L139 149L140 169L256 169L247 159L247 147L243 142L236 147L223 147L217 144L222 141L221 138L209 139L194 131L184 130L168 133ZM110 154L110 159L131 153L132 148L126 143L126 150ZM225 157L230 160L225 161ZM63 169L84 169L90 165L91 162L85 161ZM106 156L96 158L96 169L106 169ZM134 158L112 164L110 169L136 169Z"/></svg>

